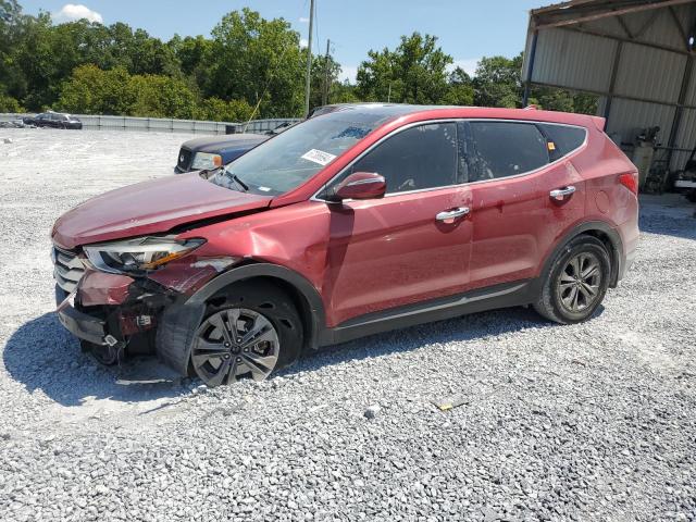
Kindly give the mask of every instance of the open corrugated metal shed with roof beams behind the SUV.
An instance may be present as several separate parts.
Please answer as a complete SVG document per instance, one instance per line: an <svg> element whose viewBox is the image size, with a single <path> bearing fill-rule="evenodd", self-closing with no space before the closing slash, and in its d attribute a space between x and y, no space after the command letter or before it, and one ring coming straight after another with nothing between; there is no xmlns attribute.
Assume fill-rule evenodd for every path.
<svg viewBox="0 0 696 522"><path fill-rule="evenodd" d="M696 145L696 1L573 0L531 11L523 64L533 85L599 97L607 132L631 141L659 125L667 164Z"/></svg>

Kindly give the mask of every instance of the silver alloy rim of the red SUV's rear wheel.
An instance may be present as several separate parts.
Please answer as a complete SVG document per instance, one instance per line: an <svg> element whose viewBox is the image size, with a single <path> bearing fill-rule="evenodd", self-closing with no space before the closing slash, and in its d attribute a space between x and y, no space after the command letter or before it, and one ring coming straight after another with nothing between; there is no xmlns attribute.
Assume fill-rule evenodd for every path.
<svg viewBox="0 0 696 522"><path fill-rule="evenodd" d="M601 264L597 256L581 252L568 260L557 282L559 301L571 313L592 307L600 294Z"/></svg>

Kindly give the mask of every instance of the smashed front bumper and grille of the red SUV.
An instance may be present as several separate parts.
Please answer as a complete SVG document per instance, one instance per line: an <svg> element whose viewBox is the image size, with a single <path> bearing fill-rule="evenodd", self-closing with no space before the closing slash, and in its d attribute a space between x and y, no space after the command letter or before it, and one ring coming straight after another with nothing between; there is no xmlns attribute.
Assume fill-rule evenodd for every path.
<svg viewBox="0 0 696 522"><path fill-rule="evenodd" d="M83 347L157 353L186 375L188 346L204 311L189 298L236 260L187 257L140 276L96 270L82 252L59 247L53 261L58 318L87 343Z"/></svg>

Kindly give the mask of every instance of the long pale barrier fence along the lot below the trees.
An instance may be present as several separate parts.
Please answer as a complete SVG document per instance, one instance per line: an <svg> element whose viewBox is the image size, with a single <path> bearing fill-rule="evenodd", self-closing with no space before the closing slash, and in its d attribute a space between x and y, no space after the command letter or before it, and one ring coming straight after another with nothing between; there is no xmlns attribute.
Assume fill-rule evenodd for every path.
<svg viewBox="0 0 696 522"><path fill-rule="evenodd" d="M34 114L0 113L0 122L22 120ZM206 122L201 120L173 120L163 117L107 116L95 114L74 114L83 122L83 128L95 130L140 130L151 133L189 133L189 134L236 134L241 133L246 123ZM298 117L274 117L252 120L247 125L247 133L264 133L283 123L299 122Z"/></svg>

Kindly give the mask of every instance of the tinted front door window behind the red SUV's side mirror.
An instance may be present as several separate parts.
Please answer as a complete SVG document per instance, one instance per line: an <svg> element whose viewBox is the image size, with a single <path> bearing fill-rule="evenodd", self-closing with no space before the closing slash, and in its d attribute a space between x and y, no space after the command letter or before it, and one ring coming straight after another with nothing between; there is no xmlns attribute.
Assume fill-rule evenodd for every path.
<svg viewBox="0 0 696 522"><path fill-rule="evenodd" d="M455 185L457 162L457 125L430 123L386 139L349 172L381 174L387 182L387 194L394 194Z"/></svg>

